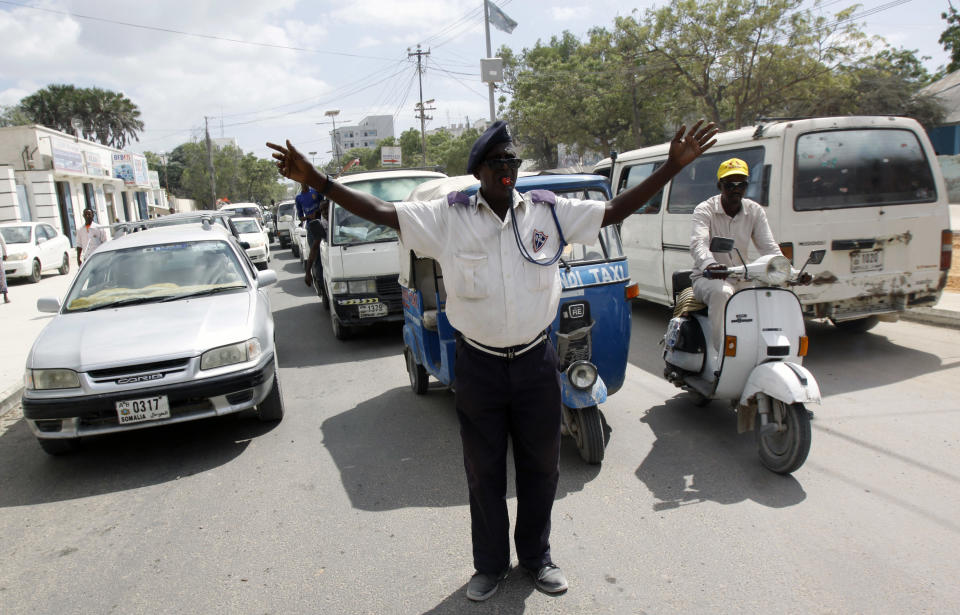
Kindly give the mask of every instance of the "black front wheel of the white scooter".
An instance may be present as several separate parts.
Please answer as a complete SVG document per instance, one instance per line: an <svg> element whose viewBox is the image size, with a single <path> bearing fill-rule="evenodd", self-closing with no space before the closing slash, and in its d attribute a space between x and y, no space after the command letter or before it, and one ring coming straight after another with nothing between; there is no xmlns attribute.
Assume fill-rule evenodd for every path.
<svg viewBox="0 0 960 615"><path fill-rule="evenodd" d="M770 425L778 425L778 431L763 433L760 420L755 423L757 452L760 462L777 474L790 474L803 465L810 452L810 414L803 404L787 404L779 399L770 400L773 408ZM782 417L778 424L774 417Z"/></svg>

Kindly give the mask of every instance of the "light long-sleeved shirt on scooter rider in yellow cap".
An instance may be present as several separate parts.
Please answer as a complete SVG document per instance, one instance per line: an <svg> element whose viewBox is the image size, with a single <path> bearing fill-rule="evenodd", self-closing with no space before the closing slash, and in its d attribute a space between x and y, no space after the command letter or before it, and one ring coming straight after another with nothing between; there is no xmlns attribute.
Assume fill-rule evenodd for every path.
<svg viewBox="0 0 960 615"><path fill-rule="evenodd" d="M740 264L736 252L716 255L711 252L710 239L713 237L733 239L734 246L740 250L744 259L747 258L751 241L762 256L783 255L773 233L770 232L763 206L750 199L743 199L741 203L740 211L732 218L723 211L719 194L700 203L693 210L693 230L690 233L690 255L693 256L691 279L701 277L703 270L713 263L728 267Z"/></svg>

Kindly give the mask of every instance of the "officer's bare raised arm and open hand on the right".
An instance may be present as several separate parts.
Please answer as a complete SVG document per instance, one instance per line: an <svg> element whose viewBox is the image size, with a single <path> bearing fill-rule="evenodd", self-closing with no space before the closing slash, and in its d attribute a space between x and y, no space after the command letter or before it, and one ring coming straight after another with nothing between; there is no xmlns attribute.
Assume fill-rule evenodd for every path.
<svg viewBox="0 0 960 615"><path fill-rule="evenodd" d="M603 214L603 226L622 222L627 216L643 207L644 203L660 192L660 189L683 167L696 160L697 156L717 142L713 139L717 134L716 125L710 122L701 128L701 124L703 120L694 124L689 131L686 126L681 126L673 136L673 141L670 142L667 162L640 185L618 194L607 202L607 209Z"/></svg>

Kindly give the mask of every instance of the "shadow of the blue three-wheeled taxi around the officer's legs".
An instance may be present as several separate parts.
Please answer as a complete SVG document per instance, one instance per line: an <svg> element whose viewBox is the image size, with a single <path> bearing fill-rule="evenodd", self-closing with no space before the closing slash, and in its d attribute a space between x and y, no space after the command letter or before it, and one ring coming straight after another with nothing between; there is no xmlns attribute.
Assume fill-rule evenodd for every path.
<svg viewBox="0 0 960 615"><path fill-rule="evenodd" d="M330 452L354 508L388 511L469 503L454 396L395 388L323 422ZM512 452L507 497L515 497ZM586 465L571 438L560 450L557 499L583 490L600 472Z"/></svg>

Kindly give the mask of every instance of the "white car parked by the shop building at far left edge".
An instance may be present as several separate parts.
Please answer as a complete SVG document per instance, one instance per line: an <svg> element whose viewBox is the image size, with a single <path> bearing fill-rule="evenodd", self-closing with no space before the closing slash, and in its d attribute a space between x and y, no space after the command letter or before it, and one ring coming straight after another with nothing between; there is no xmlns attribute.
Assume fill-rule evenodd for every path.
<svg viewBox="0 0 960 615"><path fill-rule="evenodd" d="M3 262L8 278L39 282L44 271L70 272L70 240L45 222L5 222L0 233L7 244Z"/></svg>

